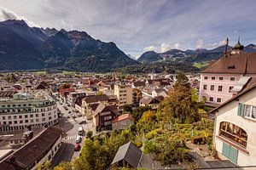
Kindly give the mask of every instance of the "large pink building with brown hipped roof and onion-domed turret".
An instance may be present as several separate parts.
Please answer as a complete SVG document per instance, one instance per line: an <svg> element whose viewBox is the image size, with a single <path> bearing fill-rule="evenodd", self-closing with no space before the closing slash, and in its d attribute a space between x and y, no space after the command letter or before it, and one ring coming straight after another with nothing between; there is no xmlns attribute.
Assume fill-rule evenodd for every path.
<svg viewBox="0 0 256 170"><path fill-rule="evenodd" d="M228 45L228 44L227 44ZM238 41L231 52L201 72L200 100L207 105L221 105L238 94L250 78L256 77L256 53L245 53Z"/></svg>

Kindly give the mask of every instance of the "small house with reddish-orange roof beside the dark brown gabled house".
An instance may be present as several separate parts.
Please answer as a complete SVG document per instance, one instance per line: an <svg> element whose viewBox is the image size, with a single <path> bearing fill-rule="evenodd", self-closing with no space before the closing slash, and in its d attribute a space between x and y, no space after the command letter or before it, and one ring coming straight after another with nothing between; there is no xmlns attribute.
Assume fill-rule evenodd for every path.
<svg viewBox="0 0 256 170"><path fill-rule="evenodd" d="M112 130L126 129L134 122L134 118L130 114L116 116L112 121Z"/></svg>

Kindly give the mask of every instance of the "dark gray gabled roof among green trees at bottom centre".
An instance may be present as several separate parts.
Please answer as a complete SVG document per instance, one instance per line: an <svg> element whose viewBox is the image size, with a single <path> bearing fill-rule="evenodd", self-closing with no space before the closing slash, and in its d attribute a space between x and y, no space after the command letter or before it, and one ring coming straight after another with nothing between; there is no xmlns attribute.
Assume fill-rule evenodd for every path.
<svg viewBox="0 0 256 170"><path fill-rule="evenodd" d="M137 167L141 159L143 152L138 149L135 144L128 142L127 144L121 145L116 155L113 158L111 165L125 160L131 165L131 167Z"/></svg>

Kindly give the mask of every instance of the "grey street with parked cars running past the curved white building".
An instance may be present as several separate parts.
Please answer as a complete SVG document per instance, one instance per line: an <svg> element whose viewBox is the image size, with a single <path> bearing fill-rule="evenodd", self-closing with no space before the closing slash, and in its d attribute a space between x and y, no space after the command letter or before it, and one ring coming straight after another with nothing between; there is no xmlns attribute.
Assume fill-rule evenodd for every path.
<svg viewBox="0 0 256 170"><path fill-rule="evenodd" d="M53 166L56 166L61 161L73 161L76 157L79 156L79 151L74 151L75 140L79 135L79 127L83 126L85 133L87 133L89 130L92 130L92 122L87 121L86 117L84 116L78 116L76 113L73 112L73 108L71 107L67 107L68 111L72 111L72 113L75 114L77 118L67 118L67 115L69 114L68 111L64 109L64 105L66 104L61 105L59 102L57 102L57 107L62 114L62 116L59 118L58 124L66 132L66 134L63 135L61 148L58 150L55 157L53 158ZM79 122L81 121L86 121L86 124L80 125ZM84 141L84 138L82 142Z"/></svg>

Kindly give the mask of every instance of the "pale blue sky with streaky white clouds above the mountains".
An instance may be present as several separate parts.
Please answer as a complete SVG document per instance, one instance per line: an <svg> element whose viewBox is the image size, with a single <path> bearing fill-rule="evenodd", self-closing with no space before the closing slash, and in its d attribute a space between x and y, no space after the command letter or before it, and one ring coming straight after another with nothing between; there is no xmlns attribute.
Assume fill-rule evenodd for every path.
<svg viewBox="0 0 256 170"><path fill-rule="evenodd" d="M0 20L86 31L133 57L256 43L255 16L255 0L0 0Z"/></svg>

